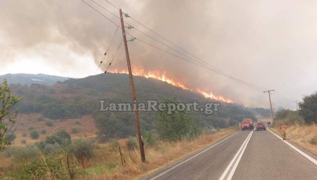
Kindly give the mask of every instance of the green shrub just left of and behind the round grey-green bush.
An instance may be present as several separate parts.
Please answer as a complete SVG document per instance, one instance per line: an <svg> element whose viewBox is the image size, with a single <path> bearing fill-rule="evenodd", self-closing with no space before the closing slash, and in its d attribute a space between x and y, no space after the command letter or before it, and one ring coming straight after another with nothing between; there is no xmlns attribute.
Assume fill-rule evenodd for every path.
<svg viewBox="0 0 317 180"><path fill-rule="evenodd" d="M61 146L67 146L71 142L71 137L65 130L60 130L53 135L47 136L44 142L48 144L58 143Z"/></svg>

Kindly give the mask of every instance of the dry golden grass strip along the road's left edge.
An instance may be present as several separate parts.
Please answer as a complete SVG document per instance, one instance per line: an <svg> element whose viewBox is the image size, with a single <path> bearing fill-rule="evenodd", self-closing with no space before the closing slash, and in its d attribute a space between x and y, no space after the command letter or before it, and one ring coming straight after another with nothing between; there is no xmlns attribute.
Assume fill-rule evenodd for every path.
<svg viewBox="0 0 317 180"><path fill-rule="evenodd" d="M193 153L206 145L215 142L216 140L232 134L237 131L236 128L221 130L213 135L200 135L193 141L182 140L177 142L159 141L154 146L148 146L145 149L146 163L141 163L138 150L131 151L126 148L125 143L120 142L121 151L126 160L126 164L121 165L120 155L118 150L109 147L103 147L96 150L95 157L87 162L88 171L94 172L94 169L99 169L99 166L104 166L104 163L115 165L115 168L110 168L99 174L91 173L88 179L92 180L124 180L138 179L145 176L158 168L166 166L175 160L182 158L190 153ZM97 166L96 166L97 165Z"/></svg>

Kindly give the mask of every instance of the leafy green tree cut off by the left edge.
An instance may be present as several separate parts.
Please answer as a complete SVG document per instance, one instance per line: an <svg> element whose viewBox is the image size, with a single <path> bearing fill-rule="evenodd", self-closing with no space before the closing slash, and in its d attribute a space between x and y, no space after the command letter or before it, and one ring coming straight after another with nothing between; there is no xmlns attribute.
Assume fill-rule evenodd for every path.
<svg viewBox="0 0 317 180"><path fill-rule="evenodd" d="M11 131L11 135L13 135L17 127L13 129L15 118L18 115L18 109L13 110L12 108L20 101L20 97L11 94L8 82L4 79L3 84L0 85L0 149L10 144L10 137L7 137L6 134Z"/></svg>

